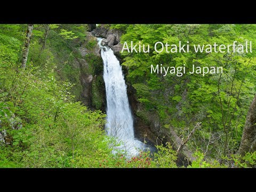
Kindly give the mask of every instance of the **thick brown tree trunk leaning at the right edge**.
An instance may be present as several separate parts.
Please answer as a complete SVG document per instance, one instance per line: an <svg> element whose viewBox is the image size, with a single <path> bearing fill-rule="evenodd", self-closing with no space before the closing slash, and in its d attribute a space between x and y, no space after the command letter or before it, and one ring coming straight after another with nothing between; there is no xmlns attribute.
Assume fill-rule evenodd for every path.
<svg viewBox="0 0 256 192"><path fill-rule="evenodd" d="M243 136L238 154L244 156L247 152L256 150L256 95L248 110Z"/></svg>

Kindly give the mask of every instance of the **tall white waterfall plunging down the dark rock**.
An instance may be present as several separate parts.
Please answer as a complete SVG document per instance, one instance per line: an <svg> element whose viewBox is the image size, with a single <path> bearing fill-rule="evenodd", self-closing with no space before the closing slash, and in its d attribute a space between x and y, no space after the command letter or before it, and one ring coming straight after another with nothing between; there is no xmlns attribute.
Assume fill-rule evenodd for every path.
<svg viewBox="0 0 256 192"><path fill-rule="evenodd" d="M101 45L102 38L98 38L101 57L104 63L103 79L106 86L108 135L121 142L118 149L125 150L129 155L136 155L143 147L143 143L134 139L133 118L127 97L126 84L122 67L114 55L113 50Z"/></svg>

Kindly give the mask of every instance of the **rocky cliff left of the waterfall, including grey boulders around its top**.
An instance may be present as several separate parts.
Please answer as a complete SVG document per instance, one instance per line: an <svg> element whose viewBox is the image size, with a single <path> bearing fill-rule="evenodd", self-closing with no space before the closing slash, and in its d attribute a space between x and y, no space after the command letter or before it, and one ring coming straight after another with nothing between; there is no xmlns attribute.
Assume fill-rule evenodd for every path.
<svg viewBox="0 0 256 192"><path fill-rule="evenodd" d="M82 90L78 100L90 109L106 111L106 91L103 81L103 61L100 56L100 47L96 37L103 37L104 43L120 55L122 47L120 42L121 33L117 30L108 30L105 27L97 27L95 24L88 25L86 39L81 43L78 51L74 50L78 57L75 58L71 67L79 69L79 79ZM91 32L90 32L91 31ZM96 36L96 37L95 37Z"/></svg>

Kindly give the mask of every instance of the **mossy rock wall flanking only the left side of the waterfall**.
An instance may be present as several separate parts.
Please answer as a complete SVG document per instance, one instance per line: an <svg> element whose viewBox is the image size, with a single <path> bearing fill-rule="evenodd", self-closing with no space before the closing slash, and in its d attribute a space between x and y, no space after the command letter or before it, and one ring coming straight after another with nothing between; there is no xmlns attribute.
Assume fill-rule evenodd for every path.
<svg viewBox="0 0 256 192"><path fill-rule="evenodd" d="M82 85L81 100L85 106L91 109L105 111L106 93L103 81L103 61L100 57L100 47L90 32L86 33L86 39L78 49L78 55L74 62L75 67L80 68L80 81Z"/></svg>

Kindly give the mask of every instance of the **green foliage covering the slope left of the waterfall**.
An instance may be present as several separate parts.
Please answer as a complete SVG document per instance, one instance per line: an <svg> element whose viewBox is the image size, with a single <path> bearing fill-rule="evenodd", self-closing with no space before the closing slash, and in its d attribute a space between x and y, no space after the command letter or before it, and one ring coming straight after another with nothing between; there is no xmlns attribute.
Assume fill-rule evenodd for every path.
<svg viewBox="0 0 256 192"><path fill-rule="evenodd" d="M19 27L22 26L15 26ZM102 131L105 115L75 102L71 94L76 86L74 82L80 84L78 70L70 63L74 59L72 50L77 46L71 41L77 31L85 28L70 26L77 28L74 33L68 33L59 29L61 27L50 25L42 50L39 43L44 28L35 25L27 68L21 71L23 33L11 33L12 27L3 26L5 33L0 33L0 131L6 130L7 136L6 143L0 146L1 167L90 167L88 163L79 164L78 159L86 157L87 162L94 162L95 154L111 155L109 139ZM21 126L14 126L18 119L23 125L21 129Z"/></svg>

